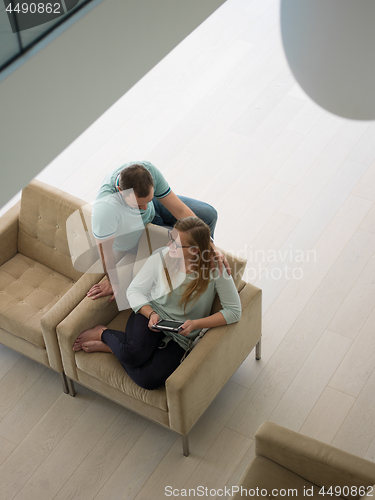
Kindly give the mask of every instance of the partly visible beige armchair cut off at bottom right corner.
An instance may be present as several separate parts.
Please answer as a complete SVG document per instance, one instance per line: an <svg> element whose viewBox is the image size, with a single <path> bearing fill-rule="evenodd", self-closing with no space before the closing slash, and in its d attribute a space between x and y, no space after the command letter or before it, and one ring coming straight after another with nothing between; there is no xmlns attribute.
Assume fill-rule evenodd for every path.
<svg viewBox="0 0 375 500"><path fill-rule="evenodd" d="M255 453L233 500L246 495L357 499L372 493L369 500L375 497L375 463L271 422L257 430Z"/></svg>

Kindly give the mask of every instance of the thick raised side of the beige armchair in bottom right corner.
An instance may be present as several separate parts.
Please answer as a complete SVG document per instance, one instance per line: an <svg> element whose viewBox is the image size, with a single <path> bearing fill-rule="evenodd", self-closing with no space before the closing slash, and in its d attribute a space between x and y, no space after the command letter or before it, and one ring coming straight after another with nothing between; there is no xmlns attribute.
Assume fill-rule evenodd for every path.
<svg viewBox="0 0 375 500"><path fill-rule="evenodd" d="M375 483L375 463L271 422L257 430L255 452L318 486Z"/></svg>

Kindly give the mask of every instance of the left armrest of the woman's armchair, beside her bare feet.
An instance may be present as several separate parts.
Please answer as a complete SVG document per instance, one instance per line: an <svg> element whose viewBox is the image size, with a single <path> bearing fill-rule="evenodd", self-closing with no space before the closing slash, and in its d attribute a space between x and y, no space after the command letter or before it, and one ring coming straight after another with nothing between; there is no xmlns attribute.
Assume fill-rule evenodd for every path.
<svg viewBox="0 0 375 500"><path fill-rule="evenodd" d="M73 344L78 335L96 325L107 325L118 314L116 301L108 302L109 297L92 300L85 297L65 319L57 325L57 340L66 375L78 380Z"/></svg>

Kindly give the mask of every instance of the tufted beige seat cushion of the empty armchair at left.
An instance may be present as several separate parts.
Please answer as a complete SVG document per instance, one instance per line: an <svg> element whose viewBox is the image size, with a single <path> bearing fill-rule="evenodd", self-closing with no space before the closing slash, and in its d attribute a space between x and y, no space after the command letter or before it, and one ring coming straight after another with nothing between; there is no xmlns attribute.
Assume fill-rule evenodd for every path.
<svg viewBox="0 0 375 500"><path fill-rule="evenodd" d="M20 253L0 266L0 327L45 347L40 320L74 281Z"/></svg>

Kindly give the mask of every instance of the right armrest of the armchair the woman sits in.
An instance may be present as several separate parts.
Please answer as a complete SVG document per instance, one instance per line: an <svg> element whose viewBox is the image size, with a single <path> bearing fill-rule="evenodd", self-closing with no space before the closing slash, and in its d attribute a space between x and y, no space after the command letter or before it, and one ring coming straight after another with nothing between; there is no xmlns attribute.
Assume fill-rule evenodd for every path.
<svg viewBox="0 0 375 500"><path fill-rule="evenodd" d="M240 292L237 323L210 329L166 380L171 429L187 434L261 337L262 291L249 283Z"/></svg>

